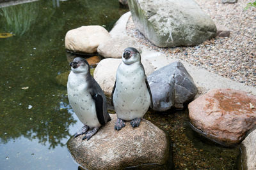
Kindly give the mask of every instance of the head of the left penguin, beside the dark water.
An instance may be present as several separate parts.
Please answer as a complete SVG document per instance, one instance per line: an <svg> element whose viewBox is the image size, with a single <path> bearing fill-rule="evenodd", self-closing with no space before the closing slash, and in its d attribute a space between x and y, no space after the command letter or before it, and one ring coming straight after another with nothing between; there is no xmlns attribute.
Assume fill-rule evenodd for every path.
<svg viewBox="0 0 256 170"><path fill-rule="evenodd" d="M70 62L69 66L74 73L89 73L90 74L90 66L86 59L82 57L76 57L72 62Z"/></svg>

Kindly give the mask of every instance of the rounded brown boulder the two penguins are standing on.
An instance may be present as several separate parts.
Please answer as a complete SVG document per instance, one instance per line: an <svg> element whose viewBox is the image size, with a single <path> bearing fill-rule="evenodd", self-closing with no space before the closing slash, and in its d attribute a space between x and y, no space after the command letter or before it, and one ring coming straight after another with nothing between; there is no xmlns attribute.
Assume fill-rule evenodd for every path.
<svg viewBox="0 0 256 170"><path fill-rule="evenodd" d="M122 130L115 131L116 115L89 141L83 136L70 138L68 150L77 163L88 169L124 169L124 167L166 164L170 150L166 134L156 125L142 120L132 128L129 122ZM145 165L147 166L147 165Z"/></svg>

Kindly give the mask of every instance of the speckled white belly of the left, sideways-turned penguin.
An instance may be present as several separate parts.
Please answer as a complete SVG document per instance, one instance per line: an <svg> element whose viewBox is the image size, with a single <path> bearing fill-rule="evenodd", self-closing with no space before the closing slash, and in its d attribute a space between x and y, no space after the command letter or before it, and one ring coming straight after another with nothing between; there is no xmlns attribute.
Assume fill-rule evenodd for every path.
<svg viewBox="0 0 256 170"><path fill-rule="evenodd" d="M68 101L79 120L89 127L100 127L92 96L87 91L87 83L74 73L68 76Z"/></svg>

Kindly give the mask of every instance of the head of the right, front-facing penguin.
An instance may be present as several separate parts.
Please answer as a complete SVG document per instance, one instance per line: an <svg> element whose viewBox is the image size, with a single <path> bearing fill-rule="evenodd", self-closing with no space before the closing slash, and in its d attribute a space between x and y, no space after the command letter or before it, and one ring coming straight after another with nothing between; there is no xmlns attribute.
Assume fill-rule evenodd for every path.
<svg viewBox="0 0 256 170"><path fill-rule="evenodd" d="M140 62L140 52L136 48L128 47L125 48L122 60L124 64L133 64L134 62Z"/></svg>

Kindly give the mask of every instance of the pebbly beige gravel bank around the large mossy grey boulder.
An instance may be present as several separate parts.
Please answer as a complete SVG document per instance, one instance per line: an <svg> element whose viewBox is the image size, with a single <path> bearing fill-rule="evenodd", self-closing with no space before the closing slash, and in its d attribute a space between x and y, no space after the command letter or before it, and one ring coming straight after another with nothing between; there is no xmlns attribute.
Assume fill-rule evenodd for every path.
<svg viewBox="0 0 256 170"><path fill-rule="evenodd" d="M215 0L195 0L215 24L230 29L230 37L216 37L198 46L159 48L148 41L132 22L127 23L127 34L140 44L164 53L167 58L184 60L212 73L256 87L256 8L244 11L247 3L239 0L223 4Z"/></svg>

